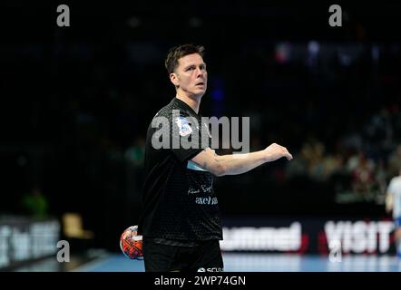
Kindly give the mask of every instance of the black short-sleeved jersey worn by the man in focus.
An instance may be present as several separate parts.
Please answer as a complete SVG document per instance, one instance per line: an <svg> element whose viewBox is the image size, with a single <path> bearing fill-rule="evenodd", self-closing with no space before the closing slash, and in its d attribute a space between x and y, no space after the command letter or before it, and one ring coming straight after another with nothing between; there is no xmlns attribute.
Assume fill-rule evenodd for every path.
<svg viewBox="0 0 401 290"><path fill-rule="evenodd" d="M155 146L154 140L165 143ZM222 239L213 175L191 161L210 147L210 141L208 125L201 121L201 115L177 98L154 116L146 137L138 228L143 237L178 241Z"/></svg>

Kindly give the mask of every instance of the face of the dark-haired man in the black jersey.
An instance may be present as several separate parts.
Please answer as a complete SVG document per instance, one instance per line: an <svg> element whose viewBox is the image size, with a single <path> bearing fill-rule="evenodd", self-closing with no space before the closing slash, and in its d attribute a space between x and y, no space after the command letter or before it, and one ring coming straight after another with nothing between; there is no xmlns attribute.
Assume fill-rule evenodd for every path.
<svg viewBox="0 0 401 290"><path fill-rule="evenodd" d="M201 97L208 85L208 72L206 63L200 54L192 53L181 57L174 73L170 74L170 80L177 88L178 94L189 97Z"/></svg>

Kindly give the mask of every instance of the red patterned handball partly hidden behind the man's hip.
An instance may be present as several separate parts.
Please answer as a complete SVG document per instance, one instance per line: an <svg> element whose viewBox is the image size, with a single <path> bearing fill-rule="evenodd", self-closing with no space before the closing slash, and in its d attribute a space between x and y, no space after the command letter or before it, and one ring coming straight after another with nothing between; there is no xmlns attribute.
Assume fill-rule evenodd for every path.
<svg viewBox="0 0 401 290"><path fill-rule="evenodd" d="M138 235L138 226L125 229L120 237L122 253L130 259L143 259L142 236Z"/></svg>

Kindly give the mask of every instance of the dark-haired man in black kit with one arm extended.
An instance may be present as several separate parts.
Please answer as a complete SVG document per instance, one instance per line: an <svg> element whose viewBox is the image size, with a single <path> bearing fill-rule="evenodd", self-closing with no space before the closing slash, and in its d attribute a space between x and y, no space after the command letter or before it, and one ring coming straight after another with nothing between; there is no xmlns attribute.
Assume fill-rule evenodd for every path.
<svg viewBox="0 0 401 290"><path fill-rule="evenodd" d="M145 271L222 271L222 228L213 175L241 174L281 157L292 159L278 144L234 157L211 150L210 133L208 142L201 142L207 125L198 111L208 83L203 51L202 46L183 44L173 47L165 61L176 96L155 115L147 132L138 228ZM199 146L188 146L193 140ZM170 147L155 146L158 141Z"/></svg>

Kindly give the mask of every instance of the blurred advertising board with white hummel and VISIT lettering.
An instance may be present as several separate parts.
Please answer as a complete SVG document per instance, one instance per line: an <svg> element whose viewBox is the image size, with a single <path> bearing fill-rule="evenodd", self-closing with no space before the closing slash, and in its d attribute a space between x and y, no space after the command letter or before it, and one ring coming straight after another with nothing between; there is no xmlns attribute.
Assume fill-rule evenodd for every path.
<svg viewBox="0 0 401 290"><path fill-rule="evenodd" d="M395 252L394 224L388 219L263 218L230 219L223 227L223 251L327 255Z"/></svg>

